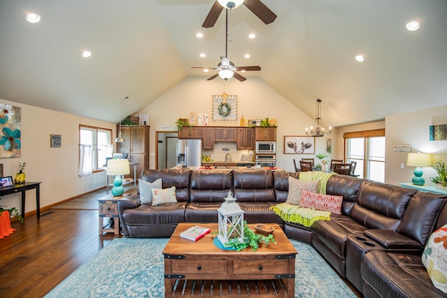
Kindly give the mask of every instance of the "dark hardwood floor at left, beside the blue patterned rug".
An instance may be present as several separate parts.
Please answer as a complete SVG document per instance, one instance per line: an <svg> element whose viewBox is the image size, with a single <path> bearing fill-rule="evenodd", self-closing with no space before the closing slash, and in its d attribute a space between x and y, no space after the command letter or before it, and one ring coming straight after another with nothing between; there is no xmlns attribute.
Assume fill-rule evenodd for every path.
<svg viewBox="0 0 447 298"><path fill-rule="evenodd" d="M45 296L112 239L121 237L98 234L98 210L51 208L40 219L27 216L24 223L15 221L12 226L17 231L0 239L0 297L8 298Z"/></svg>

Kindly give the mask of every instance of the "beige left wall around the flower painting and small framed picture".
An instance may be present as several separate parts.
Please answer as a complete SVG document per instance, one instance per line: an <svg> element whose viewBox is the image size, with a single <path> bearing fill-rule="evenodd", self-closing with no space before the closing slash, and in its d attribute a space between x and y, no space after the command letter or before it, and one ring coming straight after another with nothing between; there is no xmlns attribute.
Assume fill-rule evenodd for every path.
<svg viewBox="0 0 447 298"><path fill-rule="evenodd" d="M0 163L3 163L3 174L14 178L19 163L26 162L24 172L27 181L42 182L41 207L105 186L104 172L87 177L78 176L79 125L109 128L115 135L115 124L8 100L0 100L0 103L22 107L21 157L0 158ZM50 147L52 134L62 136L61 147ZM20 194L4 196L0 204L20 210ZM27 191L25 207L25 212L36 210L35 191Z"/></svg>

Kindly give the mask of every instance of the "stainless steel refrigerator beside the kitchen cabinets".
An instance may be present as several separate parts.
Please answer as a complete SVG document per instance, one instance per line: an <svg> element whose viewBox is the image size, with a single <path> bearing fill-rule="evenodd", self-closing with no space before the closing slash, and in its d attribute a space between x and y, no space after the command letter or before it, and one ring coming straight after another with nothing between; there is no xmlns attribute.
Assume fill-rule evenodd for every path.
<svg viewBox="0 0 447 298"><path fill-rule="evenodd" d="M177 140L177 165L200 167L202 164L202 140Z"/></svg>

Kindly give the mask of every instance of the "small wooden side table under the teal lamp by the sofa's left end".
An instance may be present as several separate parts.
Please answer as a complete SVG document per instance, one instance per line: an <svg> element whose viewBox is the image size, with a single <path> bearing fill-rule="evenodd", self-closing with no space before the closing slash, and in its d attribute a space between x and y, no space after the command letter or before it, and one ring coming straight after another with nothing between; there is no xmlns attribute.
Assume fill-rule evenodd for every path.
<svg viewBox="0 0 447 298"><path fill-rule="evenodd" d="M99 234L103 232L113 232L115 235L119 234L119 217L117 202L128 196L129 193L123 193L119 197L114 197L111 193L98 199L99 209ZM113 228L104 228L104 218L113 218Z"/></svg>

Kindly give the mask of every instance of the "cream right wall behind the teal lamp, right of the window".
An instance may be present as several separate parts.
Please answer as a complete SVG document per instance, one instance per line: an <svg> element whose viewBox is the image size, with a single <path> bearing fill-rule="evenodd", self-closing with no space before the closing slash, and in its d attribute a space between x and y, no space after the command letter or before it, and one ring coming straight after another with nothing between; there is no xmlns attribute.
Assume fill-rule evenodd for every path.
<svg viewBox="0 0 447 298"><path fill-rule="evenodd" d="M429 139L429 126L439 124L447 124L447 105L386 117L386 182L411 182L414 176L414 167L406 166L408 154L394 151L395 145L410 144L412 152L431 153L432 163L447 163L447 140ZM404 169L400 168L401 163L404 163ZM430 177L436 174L434 169L423 167L423 172L425 184L433 185Z"/></svg>

